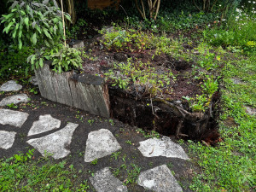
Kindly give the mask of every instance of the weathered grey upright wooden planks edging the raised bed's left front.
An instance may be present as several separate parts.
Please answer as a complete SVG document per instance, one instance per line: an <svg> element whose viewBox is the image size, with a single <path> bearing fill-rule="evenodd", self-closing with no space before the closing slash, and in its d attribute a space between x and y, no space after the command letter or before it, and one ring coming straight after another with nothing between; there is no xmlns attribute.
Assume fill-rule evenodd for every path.
<svg viewBox="0 0 256 192"><path fill-rule="evenodd" d="M85 73L55 73L50 70L50 63L44 62L44 67L35 70L41 96L91 114L109 117L108 85L104 79Z"/></svg>

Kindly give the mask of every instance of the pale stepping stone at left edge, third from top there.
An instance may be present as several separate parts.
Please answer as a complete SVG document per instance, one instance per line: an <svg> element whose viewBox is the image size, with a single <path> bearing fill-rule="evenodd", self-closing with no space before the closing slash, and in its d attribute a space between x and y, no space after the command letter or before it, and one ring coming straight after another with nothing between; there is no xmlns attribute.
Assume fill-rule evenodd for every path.
<svg viewBox="0 0 256 192"><path fill-rule="evenodd" d="M0 124L21 127L25 123L28 115L28 113L24 112L0 109Z"/></svg>

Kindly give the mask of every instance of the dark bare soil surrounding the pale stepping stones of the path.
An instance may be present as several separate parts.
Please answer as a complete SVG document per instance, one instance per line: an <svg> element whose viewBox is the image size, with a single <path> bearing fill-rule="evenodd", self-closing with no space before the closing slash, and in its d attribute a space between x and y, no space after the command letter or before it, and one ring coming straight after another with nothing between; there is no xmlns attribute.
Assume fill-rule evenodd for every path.
<svg viewBox="0 0 256 192"><path fill-rule="evenodd" d="M56 102L50 102L49 100L44 99L40 95L34 95L32 93L29 93L29 86L31 85L26 86L23 90L20 90L19 93L26 93L26 95L28 95L32 99L32 101L26 104L18 104L18 108L10 108L12 110L19 110L29 113L29 117L26 120L25 124L22 125L21 128L16 128L11 125L0 125L1 130L3 131L17 132L13 147L7 150L0 150L0 158L9 158L14 154L19 153L25 154L28 149L32 148L26 143L26 141L36 137L43 137L45 135L48 135L49 133L58 131L66 126L67 122L73 122L79 124L79 127L76 129L76 131L74 131L72 143L68 147L71 153L66 158L63 158L61 160L53 160L53 162L57 163L61 162L62 160L67 160L67 165L73 164L78 171L82 171L82 173L78 173L79 177L76 179L84 181L84 179L88 179L89 177L91 177L91 172L99 171L106 166L111 167L112 171L114 171L116 168L119 168L121 165L125 164L128 167L127 169L131 170L131 164L135 164L141 167L141 171L143 172L155 166L168 164L171 165L171 170L175 172L175 177L177 178L177 180L183 184L183 191L190 191L188 186L193 177L193 172L191 169L193 165L187 160L180 160L175 158L170 159L165 157L144 157L137 150L137 147L139 146L139 142L146 140L147 138L143 137L143 134L137 131L137 127L123 124L122 122L115 119L113 119L114 125L112 125L109 119L90 115L89 113L79 111L76 108L69 108ZM0 95L0 101L4 97L10 95L11 94L9 93L4 93L3 95ZM37 136L27 137L27 133L32 127L32 123L35 120L38 120L40 115L44 114L51 114L53 118L60 119L60 129L48 131ZM83 119L80 119L81 117L83 117ZM88 123L89 119L94 120L94 123L90 125ZM121 153L119 154L117 160L111 157L111 155L108 155L107 157L99 159L96 165L85 163L84 151L88 133L90 131L97 131L100 129L108 129L113 133L113 135L117 138L119 144L122 147L122 149L120 150ZM127 140L130 140L132 144L130 145L128 143L125 143L125 141ZM188 152L185 145L183 145L183 148L186 152ZM125 161L123 160L124 157ZM38 160L40 158L42 158L42 155L39 154L37 150L35 150L33 160ZM117 177L119 177L119 179L124 182L125 178L127 177L127 170L120 169L119 176ZM135 183L130 183L127 185L127 187L129 191L147 191Z"/></svg>

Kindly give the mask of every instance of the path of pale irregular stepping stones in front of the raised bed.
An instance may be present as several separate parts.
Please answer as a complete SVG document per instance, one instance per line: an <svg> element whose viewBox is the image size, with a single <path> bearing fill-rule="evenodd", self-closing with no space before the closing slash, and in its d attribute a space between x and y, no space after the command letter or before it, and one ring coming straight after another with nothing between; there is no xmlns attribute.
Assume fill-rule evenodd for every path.
<svg viewBox="0 0 256 192"><path fill-rule="evenodd" d="M20 86L15 81L9 81L3 84L0 90L16 91L21 89ZM31 114L4 108L8 104L20 102L28 102L28 97L25 94L17 94L7 96L0 101L0 106L3 107L0 108L0 152L1 150L11 150L19 130L26 129L25 126L28 125L25 125L25 123ZM33 123L28 127L26 134L26 137L28 137L26 143L32 148L36 148L43 156L51 155L55 160L67 158L67 155L71 153L70 145L73 142L73 138L76 137L74 133L81 124L62 122L60 119L55 119L51 116L51 111L48 114L32 119L32 121ZM61 124L66 125L61 128ZM6 130L7 125L10 127L9 131ZM104 158L117 153L119 150L131 150L128 147L123 148L119 144L121 140L118 134L114 134L108 129L102 128L96 131L90 131L90 128L86 129L89 130L88 134L84 135L86 144L80 146L82 151L85 150L84 164L91 163L94 160L104 162ZM132 140L132 136L123 143L129 143L127 141L130 140ZM131 145L131 147L133 146ZM148 162L150 162L151 158L166 158L166 160L176 158L178 163L180 160L189 160L183 148L177 143L173 143L169 137L162 137L161 139L143 138L143 141L138 142L132 150L141 153L140 155L143 158L148 158ZM103 165L105 164L103 163ZM89 179L96 191L128 191L125 184L119 178L114 177L108 166L103 166ZM183 191L166 164L140 172L137 177L137 184L149 191Z"/></svg>

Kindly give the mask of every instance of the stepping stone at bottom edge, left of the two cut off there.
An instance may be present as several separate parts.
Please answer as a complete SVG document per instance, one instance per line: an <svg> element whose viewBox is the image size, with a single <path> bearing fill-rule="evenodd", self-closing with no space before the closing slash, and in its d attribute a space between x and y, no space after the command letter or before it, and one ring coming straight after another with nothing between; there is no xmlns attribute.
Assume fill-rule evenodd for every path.
<svg viewBox="0 0 256 192"><path fill-rule="evenodd" d="M95 173L94 177L90 177L90 183L96 191L101 192L125 192L128 191L127 187L123 185L118 178L113 177L109 167L106 167Z"/></svg>

